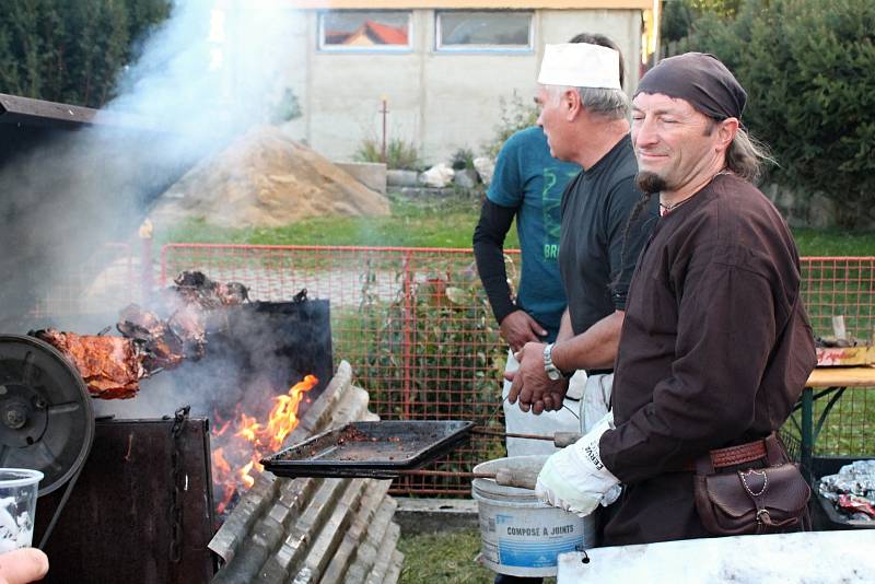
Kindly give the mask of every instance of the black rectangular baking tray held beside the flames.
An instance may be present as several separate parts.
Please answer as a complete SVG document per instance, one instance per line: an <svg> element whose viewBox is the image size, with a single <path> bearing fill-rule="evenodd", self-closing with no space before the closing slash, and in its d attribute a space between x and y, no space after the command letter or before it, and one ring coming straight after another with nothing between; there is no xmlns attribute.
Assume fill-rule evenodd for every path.
<svg viewBox="0 0 875 584"><path fill-rule="evenodd" d="M351 422L261 460L279 477L393 479L452 451L474 422L386 420Z"/></svg>

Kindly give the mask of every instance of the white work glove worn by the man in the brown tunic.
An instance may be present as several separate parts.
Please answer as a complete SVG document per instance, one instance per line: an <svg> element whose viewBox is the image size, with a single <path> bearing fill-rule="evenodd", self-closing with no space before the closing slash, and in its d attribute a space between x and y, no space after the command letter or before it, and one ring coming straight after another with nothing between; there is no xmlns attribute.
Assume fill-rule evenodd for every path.
<svg viewBox="0 0 875 584"><path fill-rule="evenodd" d="M581 517L599 503L607 506L616 501L620 481L605 468L598 454L598 440L612 429L614 413L608 412L578 442L550 455L538 474L537 498Z"/></svg>

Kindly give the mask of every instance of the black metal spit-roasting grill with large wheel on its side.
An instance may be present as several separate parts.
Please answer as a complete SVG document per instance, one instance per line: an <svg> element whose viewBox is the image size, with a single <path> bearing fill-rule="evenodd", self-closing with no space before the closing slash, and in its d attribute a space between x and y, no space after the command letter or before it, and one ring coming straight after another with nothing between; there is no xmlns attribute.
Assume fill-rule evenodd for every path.
<svg viewBox="0 0 875 584"><path fill-rule="evenodd" d="M254 302L225 317L201 360L113 402L92 400L73 365L47 343L0 336L0 465L46 474L34 534L51 561L46 582L211 580L207 544L215 524L203 413L212 412L160 418L190 395L246 400L254 379L276 392L315 374L315 399L334 370L327 301ZM95 422L93 405L143 419Z"/></svg>

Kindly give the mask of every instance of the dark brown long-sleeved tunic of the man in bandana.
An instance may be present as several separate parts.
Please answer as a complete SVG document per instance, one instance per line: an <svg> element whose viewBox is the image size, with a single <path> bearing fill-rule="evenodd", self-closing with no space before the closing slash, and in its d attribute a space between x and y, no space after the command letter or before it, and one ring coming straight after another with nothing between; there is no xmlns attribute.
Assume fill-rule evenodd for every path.
<svg viewBox="0 0 875 584"><path fill-rule="evenodd" d="M605 544L704 537L692 478L709 449L777 430L815 365L798 253L735 175L661 218L627 301L602 458L625 484Z"/></svg>

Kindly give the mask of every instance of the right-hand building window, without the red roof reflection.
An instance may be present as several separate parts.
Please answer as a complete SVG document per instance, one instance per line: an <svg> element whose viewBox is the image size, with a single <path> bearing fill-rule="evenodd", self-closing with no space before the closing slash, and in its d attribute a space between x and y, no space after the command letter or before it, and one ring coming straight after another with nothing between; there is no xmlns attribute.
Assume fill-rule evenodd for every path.
<svg viewBox="0 0 875 584"><path fill-rule="evenodd" d="M438 12L438 50L532 50L532 12Z"/></svg>

